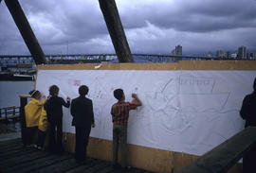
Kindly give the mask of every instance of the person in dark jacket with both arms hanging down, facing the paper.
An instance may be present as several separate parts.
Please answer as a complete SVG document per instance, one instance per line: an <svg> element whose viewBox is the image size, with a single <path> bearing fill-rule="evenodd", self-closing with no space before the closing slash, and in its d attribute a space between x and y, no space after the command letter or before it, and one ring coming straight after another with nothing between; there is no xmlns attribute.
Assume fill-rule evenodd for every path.
<svg viewBox="0 0 256 173"><path fill-rule="evenodd" d="M71 102L72 126L76 127L75 159L77 163L86 160L86 147L88 145L91 127L95 127L93 103L91 99L85 97L88 91L88 87L82 85L79 88L80 96Z"/></svg>

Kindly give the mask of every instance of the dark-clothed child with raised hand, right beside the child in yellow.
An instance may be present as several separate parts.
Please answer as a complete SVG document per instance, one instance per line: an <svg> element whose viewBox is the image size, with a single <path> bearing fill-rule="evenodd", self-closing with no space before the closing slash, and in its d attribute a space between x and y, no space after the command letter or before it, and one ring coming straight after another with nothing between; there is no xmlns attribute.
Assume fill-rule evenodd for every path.
<svg viewBox="0 0 256 173"><path fill-rule="evenodd" d="M59 95L59 87L52 85L49 87L50 98L46 101L45 110L49 123L49 151L57 154L62 154L63 147L63 106L69 108L70 98L64 98ZM56 139L57 130L57 139Z"/></svg>

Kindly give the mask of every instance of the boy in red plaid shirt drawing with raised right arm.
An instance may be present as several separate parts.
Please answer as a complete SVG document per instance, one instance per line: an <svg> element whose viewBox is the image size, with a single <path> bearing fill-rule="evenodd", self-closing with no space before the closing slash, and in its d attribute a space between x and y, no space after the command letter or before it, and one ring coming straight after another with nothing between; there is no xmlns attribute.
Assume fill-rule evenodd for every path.
<svg viewBox="0 0 256 173"><path fill-rule="evenodd" d="M135 110L142 103L136 94L132 94L135 98L133 103L125 102L125 95L122 89L114 91L115 98L118 102L111 108L112 121L113 121L113 165L118 167L118 151L119 143L121 146L121 167L127 168L127 123L129 118L129 111Z"/></svg>

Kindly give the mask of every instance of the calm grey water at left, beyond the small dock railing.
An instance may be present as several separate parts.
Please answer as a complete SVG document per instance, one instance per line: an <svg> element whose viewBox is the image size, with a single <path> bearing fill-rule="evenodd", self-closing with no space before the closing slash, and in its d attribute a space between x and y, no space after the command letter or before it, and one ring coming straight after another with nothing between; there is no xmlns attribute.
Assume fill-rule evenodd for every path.
<svg viewBox="0 0 256 173"><path fill-rule="evenodd" d="M0 81L0 108L20 106L19 95L28 95L34 81Z"/></svg>

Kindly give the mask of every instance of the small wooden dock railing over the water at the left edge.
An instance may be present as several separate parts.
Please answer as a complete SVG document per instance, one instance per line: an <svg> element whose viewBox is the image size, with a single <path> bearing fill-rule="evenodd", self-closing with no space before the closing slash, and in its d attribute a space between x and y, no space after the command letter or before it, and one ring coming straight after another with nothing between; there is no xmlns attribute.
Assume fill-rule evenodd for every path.
<svg viewBox="0 0 256 173"><path fill-rule="evenodd" d="M15 123L20 119L20 107L11 106L6 108L0 108L0 122L6 124L9 121Z"/></svg>

